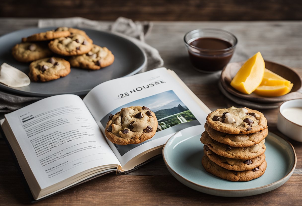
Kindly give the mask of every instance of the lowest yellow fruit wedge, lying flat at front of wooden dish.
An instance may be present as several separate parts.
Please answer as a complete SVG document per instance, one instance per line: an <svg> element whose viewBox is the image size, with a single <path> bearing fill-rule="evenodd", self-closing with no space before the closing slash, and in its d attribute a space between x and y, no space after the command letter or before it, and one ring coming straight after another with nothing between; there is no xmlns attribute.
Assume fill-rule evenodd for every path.
<svg viewBox="0 0 302 206"><path fill-rule="evenodd" d="M287 94L291 91L294 84L286 85L278 85L278 86L259 86L254 93L263 96L263 97L278 97Z"/></svg>

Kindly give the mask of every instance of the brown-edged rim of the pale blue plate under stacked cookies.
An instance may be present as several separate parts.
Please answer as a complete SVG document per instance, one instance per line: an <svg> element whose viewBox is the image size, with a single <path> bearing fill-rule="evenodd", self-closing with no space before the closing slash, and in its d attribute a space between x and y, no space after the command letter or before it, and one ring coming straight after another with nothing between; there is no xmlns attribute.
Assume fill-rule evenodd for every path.
<svg viewBox="0 0 302 206"><path fill-rule="evenodd" d="M198 127L198 126L200 127L200 125L197 125L197 126L195 126L195 127ZM189 128L186 128L186 129L184 129L184 130L187 130L187 129L189 129ZM179 131L178 133L180 133L180 132L184 132L184 131L181 130L181 131ZM192 181L186 179L185 177L181 176L181 175L178 174L175 170L173 170L172 167L170 167L169 163L167 162L167 160L166 160L166 158L165 158L165 151L166 151L165 148L167 148L166 146L167 146L173 139L175 139L175 138L177 137L177 135L176 135L177 133L175 133L175 135L173 135L172 137L170 137L170 138L168 139L168 141L165 143L164 147L162 148L162 158L163 158L163 160L164 160L164 162L165 162L165 165L166 165L166 167L168 168L168 170L169 170L170 173L171 173L171 171L172 171L175 175L177 175L177 176L180 177L181 179L185 180L186 182L188 182L188 183L190 183L190 184L192 184L192 185L194 185L194 186L197 186L197 187L200 187L200 188L203 188L203 189L208 189L208 190L211 190L211 191L219 191L219 192L243 192L243 191L248 192L248 191L255 191L255 190L262 189L262 188L270 187L270 186L272 186L272 185L276 185L276 184L278 184L278 183L284 181L284 179L289 178L289 177L292 175L292 173L294 172L294 169L295 169L296 164L297 164L297 155L296 155L294 146L293 146L288 140L282 138L281 136L279 136L279 135L277 135L277 134L275 134L275 133L273 133L273 132L269 132L269 133L270 133L270 134L273 134L274 136L277 136L278 138L283 139L285 142L287 142L287 143L290 145L290 148L292 149L292 151L293 151L293 153L294 153L294 165L293 165L293 167L291 168L291 170L290 170L283 178L281 178L281 179L279 179L279 180L277 180L277 181L275 181L275 182L273 182L273 183L270 183L270 184L268 184L268 185L261 186L261 187L255 187L255 188L251 188L251 189L239 189L239 190L216 189L216 188L211 188L211 187L199 185L199 184L194 183L194 182L192 182ZM200 135L201 135L201 133L200 133ZM196 136L196 134L193 135L193 136ZM191 136L191 137L192 137L192 136ZM171 174L172 174L172 173L171 173ZM172 175L173 175L173 174L172 174ZM176 178L176 179L177 179L177 178ZM282 184L281 184L281 185L282 185ZM281 185L280 185L280 186L281 186ZM188 186L188 185L186 185L186 186ZM190 187L190 186L188 186L188 187ZM190 187L190 188L192 188L192 187ZM278 188L278 187L277 187L277 188ZM192 189L194 189L194 188L192 188ZM195 190L196 190L196 189L195 189ZM270 191L270 190L268 190L268 191ZM268 191L265 191L265 192L268 192ZM261 194L261 193L263 193L263 192L260 192L260 193L258 193L258 194ZM208 193L208 194L210 194L210 193ZM253 195L253 194L252 194L252 195ZM216 194L216 196L220 196L220 195ZM244 196L249 196L249 195L244 195ZM243 197L243 196L233 196L233 197Z"/></svg>

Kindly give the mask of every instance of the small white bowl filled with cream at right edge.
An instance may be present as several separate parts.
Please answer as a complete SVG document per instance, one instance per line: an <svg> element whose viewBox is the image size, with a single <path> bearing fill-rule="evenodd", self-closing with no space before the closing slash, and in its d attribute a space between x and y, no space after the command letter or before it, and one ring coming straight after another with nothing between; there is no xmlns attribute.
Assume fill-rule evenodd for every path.
<svg viewBox="0 0 302 206"><path fill-rule="evenodd" d="M302 142L302 99L285 101L279 107L277 127L284 135Z"/></svg>

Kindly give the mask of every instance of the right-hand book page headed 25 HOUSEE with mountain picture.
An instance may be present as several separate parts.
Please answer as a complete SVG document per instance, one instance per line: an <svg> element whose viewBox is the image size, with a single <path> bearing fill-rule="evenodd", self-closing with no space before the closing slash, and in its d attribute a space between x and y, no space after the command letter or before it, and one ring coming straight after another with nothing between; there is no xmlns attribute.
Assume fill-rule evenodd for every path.
<svg viewBox="0 0 302 206"><path fill-rule="evenodd" d="M155 113L158 128L152 139L136 145L116 145L107 140L123 167L138 154L164 145L176 132L204 124L210 110L190 92L171 71L158 68L101 83L83 101L103 133L110 114L121 108L146 106Z"/></svg>

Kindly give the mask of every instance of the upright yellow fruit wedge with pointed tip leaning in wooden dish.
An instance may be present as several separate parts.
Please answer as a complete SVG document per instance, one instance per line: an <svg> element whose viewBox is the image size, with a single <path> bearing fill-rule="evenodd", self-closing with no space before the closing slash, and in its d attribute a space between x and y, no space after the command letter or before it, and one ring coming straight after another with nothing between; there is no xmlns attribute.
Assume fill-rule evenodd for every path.
<svg viewBox="0 0 302 206"><path fill-rule="evenodd" d="M244 94L252 93L262 82L265 63L260 52L249 58L231 81L231 86Z"/></svg>

